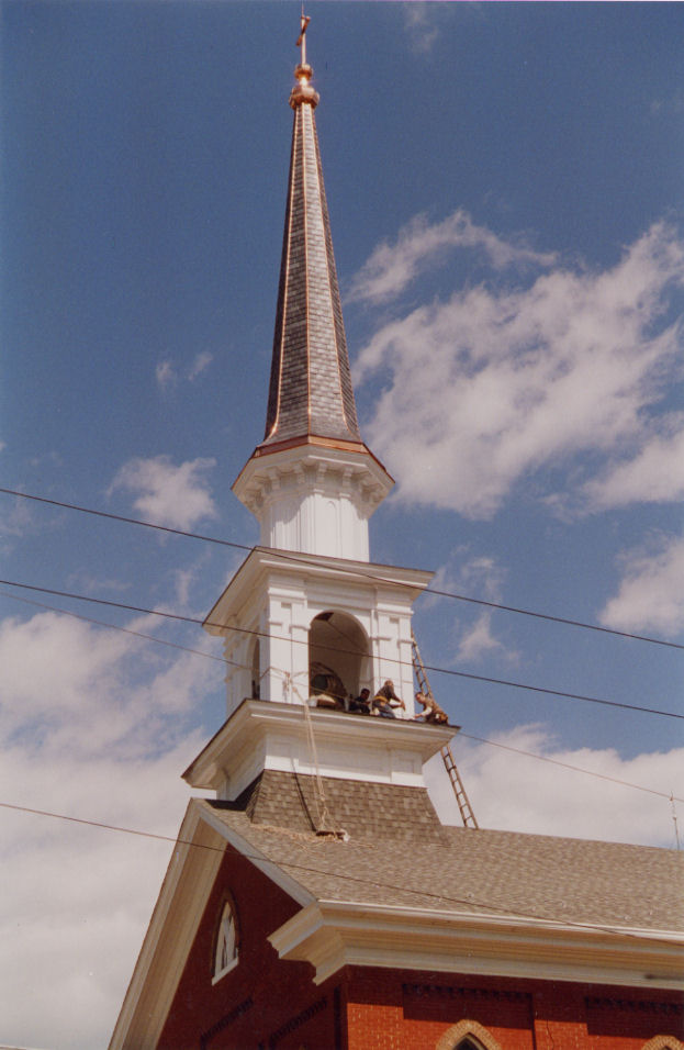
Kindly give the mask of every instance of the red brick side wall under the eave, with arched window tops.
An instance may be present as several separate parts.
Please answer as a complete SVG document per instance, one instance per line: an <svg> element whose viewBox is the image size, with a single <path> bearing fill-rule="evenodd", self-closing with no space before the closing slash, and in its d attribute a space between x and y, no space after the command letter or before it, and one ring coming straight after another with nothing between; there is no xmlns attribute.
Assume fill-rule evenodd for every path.
<svg viewBox="0 0 684 1050"><path fill-rule="evenodd" d="M349 1050L426 1050L466 1018L503 1050L640 1050L657 1035L684 1040L684 997L675 992L360 967L348 968L345 982Z"/></svg>

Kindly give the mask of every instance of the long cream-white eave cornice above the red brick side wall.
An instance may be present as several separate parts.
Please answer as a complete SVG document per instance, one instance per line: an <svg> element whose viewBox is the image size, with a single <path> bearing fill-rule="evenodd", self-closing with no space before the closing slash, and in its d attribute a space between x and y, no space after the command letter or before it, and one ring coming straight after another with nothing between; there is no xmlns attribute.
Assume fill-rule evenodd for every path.
<svg viewBox="0 0 684 1050"><path fill-rule="evenodd" d="M684 990L684 939L662 930L319 901L269 940L316 984L355 964Z"/></svg>

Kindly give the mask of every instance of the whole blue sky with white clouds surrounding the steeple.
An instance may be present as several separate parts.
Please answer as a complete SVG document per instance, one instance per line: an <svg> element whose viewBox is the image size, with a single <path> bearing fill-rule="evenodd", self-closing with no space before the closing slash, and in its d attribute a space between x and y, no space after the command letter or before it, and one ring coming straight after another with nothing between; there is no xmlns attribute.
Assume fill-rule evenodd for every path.
<svg viewBox="0 0 684 1050"><path fill-rule="evenodd" d="M231 484L262 436L299 8L0 12L1 483L254 544ZM361 428L397 482L373 559L682 644L681 5L309 13ZM7 495L0 545L5 579L192 617L242 560ZM1 590L0 801L173 835L224 716L216 643ZM415 626L439 668L683 710L681 650L438 597ZM684 797L681 721L430 679L471 736ZM675 845L660 795L456 753L490 827ZM0 1041L102 1045L169 847L0 819Z"/></svg>

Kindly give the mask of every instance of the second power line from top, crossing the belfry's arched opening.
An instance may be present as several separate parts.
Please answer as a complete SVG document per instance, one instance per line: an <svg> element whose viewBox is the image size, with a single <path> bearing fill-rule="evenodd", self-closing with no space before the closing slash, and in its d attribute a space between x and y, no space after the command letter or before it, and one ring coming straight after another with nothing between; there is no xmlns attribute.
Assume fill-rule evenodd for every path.
<svg viewBox="0 0 684 1050"><path fill-rule="evenodd" d="M113 602L109 599L90 597L86 594L75 594L70 591L58 591L52 588L37 587L31 583L19 583L15 580L0 580L0 584L2 584L3 587L22 588L23 590L27 590L27 591L38 591L43 594L55 594L58 597L68 597L79 602L92 602L97 605L108 605L113 608L123 608L126 612L132 612L132 613L144 613L149 616L161 616L165 619L179 621L186 624L195 624L198 626L208 626L208 627L220 627L225 629L225 624L212 623L211 621L201 621L197 616L183 616L180 613L165 613L165 612L161 612L160 610L145 608L144 606L141 606L141 605L128 605L123 602ZM254 637L258 637L258 638L272 638L278 641L291 641L295 645L304 645L304 646L309 645L307 640L305 639L287 638L281 635L270 635L266 630L255 630L254 628L248 628L248 627L231 626L229 630L236 632L238 634L253 635ZM365 655L365 654L361 654L359 650L351 650L351 649L339 649L338 651L345 652L350 656ZM400 659L393 658L392 662L400 666L404 666L404 667L413 667L413 663L410 660L400 660ZM581 701L587 704L602 704L603 706L606 706L606 707L620 707L624 711L638 711L638 712L641 712L642 714L660 715L664 718L680 718L684 721L684 714L679 714L677 712L673 712L673 711L660 711L657 707L646 707L641 704L626 704L617 700L604 700L599 696L585 696L582 693L569 693L560 689L548 689L542 685L529 685L525 682L512 682L508 679L490 678L489 675L485 675L485 674L473 674L472 672L469 672L469 671L455 671L452 668L436 667L430 663L426 663L425 669L427 671L434 671L437 674L449 674L453 678L464 678L464 679L469 679L470 681L484 682L490 685L505 685L509 689L520 689L531 693L540 693L546 696L556 696L559 700L575 700L575 701Z"/></svg>

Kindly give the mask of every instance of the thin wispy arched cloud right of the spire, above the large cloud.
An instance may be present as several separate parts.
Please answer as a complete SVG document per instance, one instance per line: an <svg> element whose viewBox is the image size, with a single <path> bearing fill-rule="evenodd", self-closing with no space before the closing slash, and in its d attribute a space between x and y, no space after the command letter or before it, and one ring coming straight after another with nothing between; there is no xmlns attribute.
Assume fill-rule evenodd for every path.
<svg viewBox="0 0 684 1050"><path fill-rule="evenodd" d="M551 266L556 258L523 243L503 241L484 226L475 225L462 209L434 225L425 215L417 215L400 230L393 245L383 242L375 248L355 277L349 298L373 303L393 299L423 269L439 262L455 248L482 252L495 269L525 264Z"/></svg>

